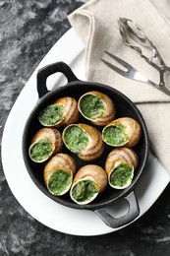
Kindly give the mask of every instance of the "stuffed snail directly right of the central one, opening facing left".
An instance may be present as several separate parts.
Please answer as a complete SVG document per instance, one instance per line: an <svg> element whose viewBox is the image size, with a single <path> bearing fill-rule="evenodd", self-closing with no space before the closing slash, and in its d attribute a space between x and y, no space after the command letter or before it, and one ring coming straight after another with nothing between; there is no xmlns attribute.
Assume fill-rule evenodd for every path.
<svg viewBox="0 0 170 256"><path fill-rule="evenodd" d="M115 119L103 128L103 141L113 147L134 147L141 138L140 124L133 118L121 117Z"/></svg>

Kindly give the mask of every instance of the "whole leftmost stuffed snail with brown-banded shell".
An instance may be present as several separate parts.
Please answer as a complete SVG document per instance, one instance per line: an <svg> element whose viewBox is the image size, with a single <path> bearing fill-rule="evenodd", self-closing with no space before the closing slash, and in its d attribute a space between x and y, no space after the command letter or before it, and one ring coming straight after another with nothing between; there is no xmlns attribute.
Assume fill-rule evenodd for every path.
<svg viewBox="0 0 170 256"><path fill-rule="evenodd" d="M28 155L35 162L43 162L62 150L61 133L55 128L42 128L33 136Z"/></svg>

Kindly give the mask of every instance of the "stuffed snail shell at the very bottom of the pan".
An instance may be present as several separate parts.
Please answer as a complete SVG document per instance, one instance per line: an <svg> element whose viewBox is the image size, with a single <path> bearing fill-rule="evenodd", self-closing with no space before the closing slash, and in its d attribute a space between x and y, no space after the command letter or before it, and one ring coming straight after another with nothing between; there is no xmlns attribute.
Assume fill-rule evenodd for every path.
<svg viewBox="0 0 170 256"><path fill-rule="evenodd" d="M87 164L78 170L74 177L70 195L79 205L90 203L107 186L107 174L95 164Z"/></svg>

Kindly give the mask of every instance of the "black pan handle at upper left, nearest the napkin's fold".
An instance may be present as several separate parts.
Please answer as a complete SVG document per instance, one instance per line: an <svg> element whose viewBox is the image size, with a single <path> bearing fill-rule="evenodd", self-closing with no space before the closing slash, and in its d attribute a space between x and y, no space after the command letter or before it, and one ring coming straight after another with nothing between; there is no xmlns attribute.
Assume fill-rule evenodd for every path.
<svg viewBox="0 0 170 256"><path fill-rule="evenodd" d="M37 72L37 93L39 98L45 96L49 91L46 87L46 80L50 75L57 72L63 73L68 80L68 83L78 81L79 79L75 76L71 68L65 62L55 62L47 65Z"/></svg>

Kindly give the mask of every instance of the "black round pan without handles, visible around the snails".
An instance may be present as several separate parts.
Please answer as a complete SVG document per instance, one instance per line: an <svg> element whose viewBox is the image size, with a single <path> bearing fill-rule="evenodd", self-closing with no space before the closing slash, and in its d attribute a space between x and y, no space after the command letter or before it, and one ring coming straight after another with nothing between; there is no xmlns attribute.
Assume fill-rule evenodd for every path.
<svg viewBox="0 0 170 256"><path fill-rule="evenodd" d="M134 147L133 149L139 156L140 164L139 167L135 170L135 177L133 179L133 182L131 185L124 189L124 190L118 190L113 189L109 186L105 189L105 191L98 195L98 197L91 202L88 205L80 206L74 203L71 198L69 192L63 196L57 197L53 196L49 193L49 191L46 188L46 185L44 183L43 179L43 168L46 162L44 163L35 163L28 157L28 148L30 145L30 141L33 137L33 135L43 126L38 121L38 115L39 112L46 107L47 105L51 104L53 101L55 101L57 98L63 97L63 96L72 96L75 99L79 99L81 96L83 96L85 93L90 91L98 91L103 94L106 94L107 96L110 96L113 102L116 105L116 118L119 117L132 117L136 119L142 126L142 138L139 142L139 144ZM90 121L86 120L80 113L79 122L86 123L89 125L94 126L96 129L98 129L100 132L102 131L103 127L98 127L90 123ZM59 127L57 128L61 133L65 127ZM102 156L98 160L93 161L85 161L79 159L75 154L71 153L65 146L63 146L62 153L66 153L73 157L77 162L78 169L83 167L85 164L97 164L104 168L105 160L108 156L108 154L113 150L112 147L105 144L105 149L102 154ZM134 189L134 186L136 185L139 177L141 176L142 172L144 172L144 166L147 160L148 156L148 136L146 127L144 124L144 121L142 119L142 115L138 108L135 106L135 104L126 96L122 95L118 91L112 89L111 87L104 86L97 83L87 83L87 82L73 82L70 83L64 87L58 88L54 92L50 92L40 98L35 105L34 109L30 113L28 117L28 121L26 123L26 127L24 130L23 135L23 154L24 154L24 160L26 162L26 166L28 169L28 173L32 179L32 181L35 183L35 185L48 197L50 197L52 200L56 201L57 203L60 203L62 205L72 207L72 208L78 208L78 209L89 209L89 210L95 210L97 208L101 208L104 206L108 206L110 204L115 203L118 199L125 196L129 191ZM33 196L33 195L32 195Z"/></svg>

